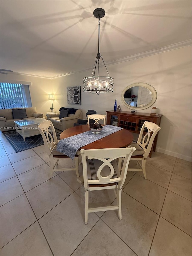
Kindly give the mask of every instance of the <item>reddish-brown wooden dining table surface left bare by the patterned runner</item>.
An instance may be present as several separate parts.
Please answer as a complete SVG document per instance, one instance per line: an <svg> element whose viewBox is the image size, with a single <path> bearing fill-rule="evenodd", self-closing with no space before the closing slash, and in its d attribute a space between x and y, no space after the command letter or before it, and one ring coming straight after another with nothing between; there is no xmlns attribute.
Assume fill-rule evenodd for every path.
<svg viewBox="0 0 192 256"><path fill-rule="evenodd" d="M85 131L90 131L89 125L74 126L62 131L59 138L60 140L62 140L62 139L74 136L76 134L83 133ZM131 132L126 129L121 129L106 137L103 137L102 139L96 140L92 143L89 143L85 146L80 147L77 151L77 154L80 153L79 150L81 149L125 148L131 145L132 142L133 142L133 135L131 134ZM83 183L83 176L78 177L77 181L79 183Z"/></svg>

